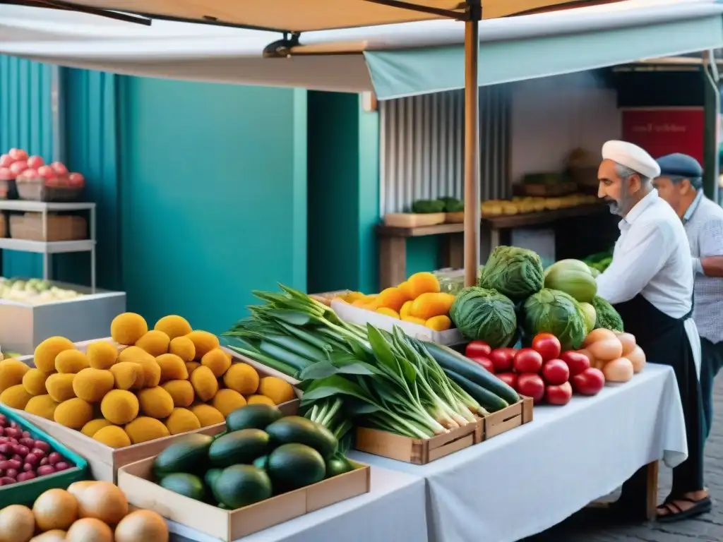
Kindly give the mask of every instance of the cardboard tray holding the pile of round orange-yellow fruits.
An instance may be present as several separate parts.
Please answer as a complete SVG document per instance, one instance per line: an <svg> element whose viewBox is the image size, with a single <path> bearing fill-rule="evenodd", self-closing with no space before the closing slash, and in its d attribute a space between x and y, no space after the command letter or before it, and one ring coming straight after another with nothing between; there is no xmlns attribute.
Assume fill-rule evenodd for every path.
<svg viewBox="0 0 723 542"><path fill-rule="evenodd" d="M107 337L103 339L87 340L83 341L82 343L75 344L77 345L79 350L85 351L87 350L87 347L88 345L90 345L90 343L94 343L100 340L112 342L112 339ZM119 349L121 348L123 347L120 347ZM233 356L236 361L243 361L244 363L248 362L246 358L239 357L239 355L234 353L234 351L228 350L228 352L231 353L231 356ZM20 359L25 362L25 364L35 366L35 364L33 364L33 356L25 356ZM268 367L258 364L256 362L254 362L252 365L262 377L277 376L276 371L273 371L273 369L269 369ZM298 390L296 390L296 392L298 393ZM294 399L288 401L287 403L282 403L281 405L278 405L278 408L284 414L286 414L286 416L294 415L299 411L299 399ZM120 467L122 467L123 465L128 465L129 463L134 463L136 461L145 459L146 457L154 457L155 455L158 455L161 451L163 451L163 449L166 449L166 447L168 447L170 444L173 444L178 439L182 439L187 434L202 433L207 435L215 435L221 433L226 429L226 423L218 423L214 426L202 427L201 429L196 429L195 431L189 431L187 433L165 436L162 439L155 439L148 442L142 442L140 444L133 444L132 446L128 446L125 448L111 448L109 446L106 446L106 444L103 444L102 442L91 439L90 436L85 436L80 431L61 426L59 423L47 420L46 418L33 416L33 414L29 414L24 410L9 410L12 410L12 412L17 416L20 416L21 418L27 420L29 423L32 423L34 426L38 427L38 429L45 431L46 434L52 436L58 442L64 444L66 447L71 449L73 452L76 452L82 457L85 457L87 459L88 466L90 467L90 473L93 475L93 478L95 478L96 480L103 480L114 483L116 481L118 469Z"/></svg>

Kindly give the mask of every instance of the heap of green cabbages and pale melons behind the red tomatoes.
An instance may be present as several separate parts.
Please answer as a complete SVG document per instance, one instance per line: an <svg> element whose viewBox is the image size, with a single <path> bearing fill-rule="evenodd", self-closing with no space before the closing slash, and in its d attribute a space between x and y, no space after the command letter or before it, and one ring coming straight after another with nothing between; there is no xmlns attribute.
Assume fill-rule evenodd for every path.
<svg viewBox="0 0 723 542"><path fill-rule="evenodd" d="M597 327L623 331L620 315L596 295L594 271L566 259L543 270L529 249L499 246L490 254L478 286L457 294L450 317L470 340L492 348L552 333L565 350L580 348Z"/></svg>

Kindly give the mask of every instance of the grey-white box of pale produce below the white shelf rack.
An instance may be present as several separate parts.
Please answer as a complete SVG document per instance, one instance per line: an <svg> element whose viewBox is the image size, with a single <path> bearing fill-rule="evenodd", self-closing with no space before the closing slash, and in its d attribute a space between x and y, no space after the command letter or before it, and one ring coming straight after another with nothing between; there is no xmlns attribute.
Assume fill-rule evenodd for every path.
<svg viewBox="0 0 723 542"><path fill-rule="evenodd" d="M54 283L87 295L46 304L0 300L0 345L5 352L32 354L48 337L73 342L105 337L113 319L126 311L126 293Z"/></svg>

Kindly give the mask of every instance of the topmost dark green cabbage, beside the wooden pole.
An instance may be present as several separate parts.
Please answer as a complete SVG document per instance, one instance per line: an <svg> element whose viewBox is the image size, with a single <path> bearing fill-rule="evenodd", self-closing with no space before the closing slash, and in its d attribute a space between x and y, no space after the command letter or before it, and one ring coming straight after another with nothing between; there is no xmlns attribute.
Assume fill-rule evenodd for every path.
<svg viewBox="0 0 723 542"><path fill-rule="evenodd" d="M540 257L517 246L498 246L489 254L479 285L518 300L539 292L544 284Z"/></svg>

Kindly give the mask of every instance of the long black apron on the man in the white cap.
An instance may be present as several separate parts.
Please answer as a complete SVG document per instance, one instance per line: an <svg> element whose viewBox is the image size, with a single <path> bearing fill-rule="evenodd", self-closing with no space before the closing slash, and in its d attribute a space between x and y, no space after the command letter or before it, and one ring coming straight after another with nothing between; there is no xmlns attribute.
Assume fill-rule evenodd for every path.
<svg viewBox="0 0 723 542"><path fill-rule="evenodd" d="M671 495L680 496L690 491L703 489L703 439L702 439L702 403L701 388L698 383L693 350L688 334L685 332L683 318L669 317L656 308L650 301L638 294L630 301L615 305L623 317L625 331L636 337L636 342L645 352L646 359L652 363L667 365L675 371L680 399L683 403L685 431L688 439L688 459L673 469ZM641 486L644 491L646 469L642 468L633 478L623 485L623 496L627 499L634 495L638 502ZM643 499L644 500L644 499Z"/></svg>

